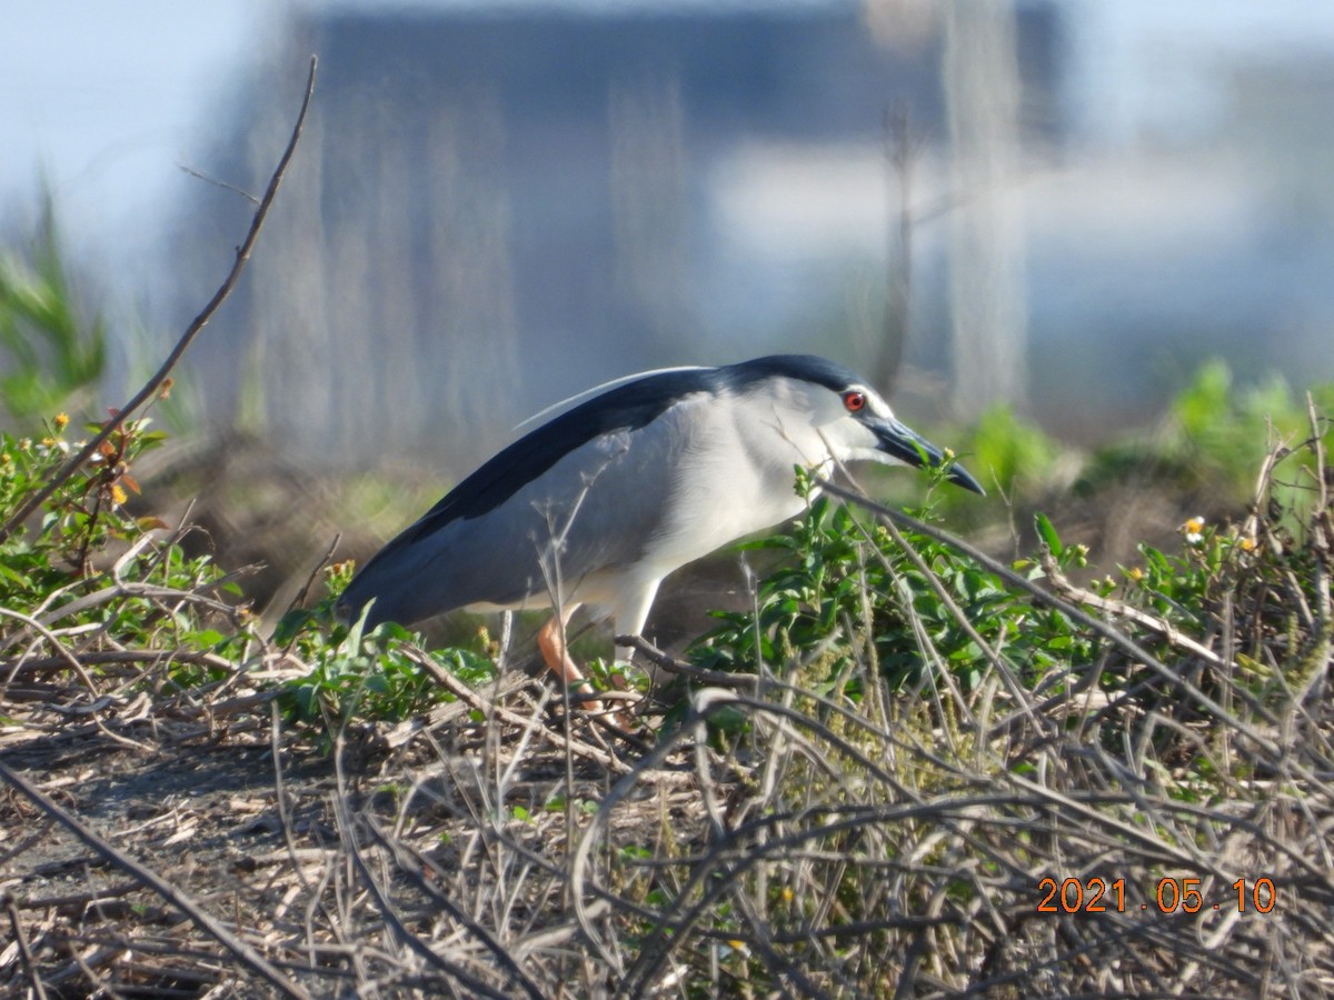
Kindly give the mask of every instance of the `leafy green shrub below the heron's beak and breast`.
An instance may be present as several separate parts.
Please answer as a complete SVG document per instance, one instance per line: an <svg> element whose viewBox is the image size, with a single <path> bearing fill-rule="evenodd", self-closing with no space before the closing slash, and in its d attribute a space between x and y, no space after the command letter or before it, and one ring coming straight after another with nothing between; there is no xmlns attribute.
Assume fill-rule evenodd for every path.
<svg viewBox="0 0 1334 1000"><path fill-rule="evenodd" d="M799 475L803 496L811 487ZM911 513L935 519L930 505ZM754 611L715 612L723 624L692 645L691 661L747 672L814 661L816 676L807 671L803 687L855 700L864 683L859 661L874 663L891 691L936 669L971 691L990 665L987 649L1030 679L1094 656L1094 644L1063 616L1035 613L1026 593L954 547L914 532L903 541L816 496L791 529L742 547L782 553L779 568L758 583ZM1083 557L1074 547L1059 555L1063 563Z"/></svg>

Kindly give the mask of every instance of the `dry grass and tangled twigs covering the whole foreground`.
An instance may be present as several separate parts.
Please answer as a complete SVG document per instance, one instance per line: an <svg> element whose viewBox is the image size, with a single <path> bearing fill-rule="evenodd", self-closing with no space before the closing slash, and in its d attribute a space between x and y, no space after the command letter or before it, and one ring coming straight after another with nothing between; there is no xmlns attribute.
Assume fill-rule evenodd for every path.
<svg viewBox="0 0 1334 1000"><path fill-rule="evenodd" d="M1162 669L1109 643L1085 676L999 656L975 689L891 695L862 657L851 701L810 692L816 652L695 679L679 725L632 740L508 668L439 675L454 701L325 753L276 723L275 683L309 671L288 651L180 691L168 659L197 653L9 619L0 988L1331 995L1330 508L1301 537L1270 509L1251 536L1315 579L1238 584Z"/></svg>

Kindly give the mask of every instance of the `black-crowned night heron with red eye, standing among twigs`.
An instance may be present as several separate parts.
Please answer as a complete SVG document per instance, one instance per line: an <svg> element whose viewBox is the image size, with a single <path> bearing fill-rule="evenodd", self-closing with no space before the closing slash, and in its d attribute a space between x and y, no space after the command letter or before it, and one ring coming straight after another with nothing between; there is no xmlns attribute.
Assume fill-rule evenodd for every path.
<svg viewBox="0 0 1334 1000"><path fill-rule="evenodd" d="M370 604L374 627L554 608L538 645L578 684L564 643L575 609L639 635L664 576L804 509L795 465L828 475L847 461L943 461L862 379L820 357L650 372L571 401L380 549L340 613ZM958 465L947 477L983 492Z"/></svg>

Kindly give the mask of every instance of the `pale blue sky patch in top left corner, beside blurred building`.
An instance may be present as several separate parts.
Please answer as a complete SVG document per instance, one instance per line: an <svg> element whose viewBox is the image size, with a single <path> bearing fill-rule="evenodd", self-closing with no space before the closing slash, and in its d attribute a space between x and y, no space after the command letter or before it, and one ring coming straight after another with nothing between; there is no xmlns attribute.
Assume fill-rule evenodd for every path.
<svg viewBox="0 0 1334 1000"><path fill-rule="evenodd" d="M260 0L17 0L0 32L0 220L33 216L39 179L71 244L132 264L191 181L208 111L273 23Z"/></svg>

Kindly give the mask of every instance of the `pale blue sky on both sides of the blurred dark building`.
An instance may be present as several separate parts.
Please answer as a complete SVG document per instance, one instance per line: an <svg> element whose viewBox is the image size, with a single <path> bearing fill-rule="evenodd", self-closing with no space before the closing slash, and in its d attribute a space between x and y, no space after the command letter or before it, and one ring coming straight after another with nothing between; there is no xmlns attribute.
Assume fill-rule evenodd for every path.
<svg viewBox="0 0 1334 1000"><path fill-rule="evenodd" d="M540 1L504 0L511 8ZM727 0L686 0L710 1ZM0 31L0 227L13 232L33 217L37 179L45 176L77 257L96 272L112 265L116 285L140 285L160 265L152 260L159 227L188 185L201 183L180 167L197 164L209 120L227 108L251 60L275 43L288 7L279 0L9 0ZM1062 11L1067 100L1093 148L1123 149L1154 132L1207 129L1219 96L1210 69L1221 59L1334 52L1329 0L1067 0Z"/></svg>

